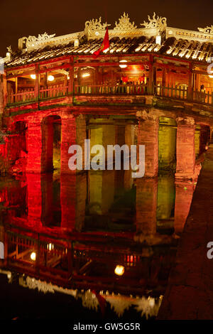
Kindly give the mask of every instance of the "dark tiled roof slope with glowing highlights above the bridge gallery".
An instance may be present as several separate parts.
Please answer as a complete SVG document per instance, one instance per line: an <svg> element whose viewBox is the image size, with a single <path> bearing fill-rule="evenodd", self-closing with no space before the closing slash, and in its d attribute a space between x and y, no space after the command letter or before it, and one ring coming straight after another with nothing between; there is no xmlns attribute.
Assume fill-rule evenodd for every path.
<svg viewBox="0 0 213 334"><path fill-rule="evenodd" d="M102 44L101 40L87 41L82 38L78 47L74 46L73 41L67 45L53 45L45 48L23 52L18 50L12 53L11 60L6 63L6 67L15 67L18 65L28 65L42 60L58 58L63 55L92 55ZM213 56L213 44L199 41L187 41L185 39L167 38L162 45L155 43L155 37L146 38L145 36L135 38L110 39L110 48L106 55L125 55L158 53L170 57L181 58L185 60L199 60L207 62Z"/></svg>

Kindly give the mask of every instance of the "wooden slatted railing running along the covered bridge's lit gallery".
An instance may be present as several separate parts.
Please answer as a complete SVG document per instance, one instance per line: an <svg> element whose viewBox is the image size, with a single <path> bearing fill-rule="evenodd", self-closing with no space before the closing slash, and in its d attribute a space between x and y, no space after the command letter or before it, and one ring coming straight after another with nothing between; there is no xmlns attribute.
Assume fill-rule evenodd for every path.
<svg viewBox="0 0 213 334"><path fill-rule="evenodd" d="M194 90L190 91L188 87L181 86L163 86L153 85L75 85L73 93L68 92L66 85L54 85L43 87L39 91L39 96L35 97L35 91L23 90L17 94L11 94L7 97L7 104L18 104L43 100L48 98L63 97L66 95L155 95L159 97L168 97L172 99L183 99L190 102L213 104L213 90Z"/></svg>

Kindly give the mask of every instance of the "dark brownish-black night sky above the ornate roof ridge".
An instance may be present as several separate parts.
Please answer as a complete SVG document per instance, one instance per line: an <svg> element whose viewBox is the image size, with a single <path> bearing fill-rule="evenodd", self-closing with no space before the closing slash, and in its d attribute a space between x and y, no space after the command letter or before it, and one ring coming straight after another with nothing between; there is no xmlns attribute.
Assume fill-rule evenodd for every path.
<svg viewBox="0 0 213 334"><path fill-rule="evenodd" d="M113 28L124 11L138 28L155 11L167 17L168 26L197 31L213 24L212 9L213 0L0 0L0 55L9 45L16 50L20 37L83 31L85 21L99 16L107 16Z"/></svg>

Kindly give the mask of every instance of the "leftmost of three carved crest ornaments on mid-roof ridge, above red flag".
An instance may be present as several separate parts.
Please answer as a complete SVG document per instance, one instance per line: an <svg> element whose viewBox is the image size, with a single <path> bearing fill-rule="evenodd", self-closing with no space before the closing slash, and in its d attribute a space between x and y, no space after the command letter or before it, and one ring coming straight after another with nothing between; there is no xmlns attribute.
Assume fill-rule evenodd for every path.
<svg viewBox="0 0 213 334"><path fill-rule="evenodd" d="M99 19L94 19L85 22L84 33L87 35L87 38L102 38L106 31L107 26L111 24L102 23L102 16Z"/></svg>

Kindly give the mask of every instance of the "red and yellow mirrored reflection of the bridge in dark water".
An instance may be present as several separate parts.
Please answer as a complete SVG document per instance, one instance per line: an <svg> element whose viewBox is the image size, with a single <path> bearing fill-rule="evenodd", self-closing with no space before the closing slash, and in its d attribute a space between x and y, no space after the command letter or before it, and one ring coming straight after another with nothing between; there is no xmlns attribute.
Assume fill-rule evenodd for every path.
<svg viewBox="0 0 213 334"><path fill-rule="evenodd" d="M82 298L118 316L156 316L195 183L131 171L1 178L1 272L22 286Z"/></svg>

